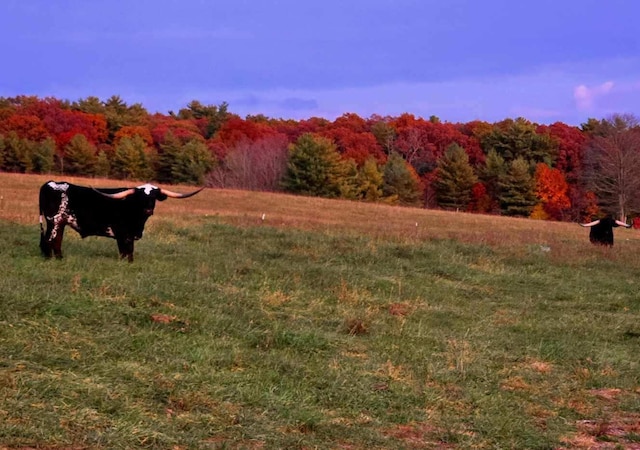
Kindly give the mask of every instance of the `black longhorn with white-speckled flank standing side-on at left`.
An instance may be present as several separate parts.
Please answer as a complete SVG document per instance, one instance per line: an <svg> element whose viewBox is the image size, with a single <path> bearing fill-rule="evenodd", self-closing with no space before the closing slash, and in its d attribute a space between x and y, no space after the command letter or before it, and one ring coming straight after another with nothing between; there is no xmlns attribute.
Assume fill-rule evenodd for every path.
<svg viewBox="0 0 640 450"><path fill-rule="evenodd" d="M156 200L168 197L187 198L204 188L189 194L178 194L144 184L136 188L94 189L68 182L49 181L40 188L40 249L50 258L62 258L62 237L69 225L87 236L105 236L118 243L120 257L133 261L133 243L142 237L144 225L153 215ZM45 232L43 222L47 223Z"/></svg>

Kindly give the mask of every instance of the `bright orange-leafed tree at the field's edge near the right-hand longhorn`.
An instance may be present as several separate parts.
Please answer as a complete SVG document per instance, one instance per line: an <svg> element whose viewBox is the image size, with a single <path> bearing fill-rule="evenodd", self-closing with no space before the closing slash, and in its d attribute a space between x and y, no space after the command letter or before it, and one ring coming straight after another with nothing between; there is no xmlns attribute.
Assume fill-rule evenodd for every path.
<svg viewBox="0 0 640 450"><path fill-rule="evenodd" d="M536 197L539 201L538 207L534 209L537 218L561 220L564 212L571 207L568 196L569 185L562 172L545 163L538 163L535 183Z"/></svg>

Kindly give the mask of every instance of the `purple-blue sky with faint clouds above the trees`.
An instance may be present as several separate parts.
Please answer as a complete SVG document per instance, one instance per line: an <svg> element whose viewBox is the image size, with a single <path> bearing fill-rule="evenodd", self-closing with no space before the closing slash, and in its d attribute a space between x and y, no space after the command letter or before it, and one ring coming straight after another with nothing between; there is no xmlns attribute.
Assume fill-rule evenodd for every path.
<svg viewBox="0 0 640 450"><path fill-rule="evenodd" d="M0 96L579 125L640 115L634 0L2 0Z"/></svg>

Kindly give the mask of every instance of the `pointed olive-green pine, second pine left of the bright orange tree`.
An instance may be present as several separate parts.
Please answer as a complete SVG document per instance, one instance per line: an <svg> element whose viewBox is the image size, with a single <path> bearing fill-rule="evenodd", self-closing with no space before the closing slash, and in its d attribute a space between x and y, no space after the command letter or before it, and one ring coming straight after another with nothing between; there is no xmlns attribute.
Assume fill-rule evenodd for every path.
<svg viewBox="0 0 640 450"><path fill-rule="evenodd" d="M434 189L438 204L447 209L466 209L471 188L478 177L469 164L469 155L458 144L451 144L438 160Z"/></svg>

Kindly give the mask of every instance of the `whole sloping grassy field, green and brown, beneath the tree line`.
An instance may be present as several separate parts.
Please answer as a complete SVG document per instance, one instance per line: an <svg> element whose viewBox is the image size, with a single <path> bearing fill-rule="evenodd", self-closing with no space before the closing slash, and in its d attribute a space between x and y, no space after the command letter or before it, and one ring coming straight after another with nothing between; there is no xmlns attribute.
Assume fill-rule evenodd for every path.
<svg viewBox="0 0 640 450"><path fill-rule="evenodd" d="M0 174L0 448L640 448L637 230L210 189L44 260L47 179Z"/></svg>

